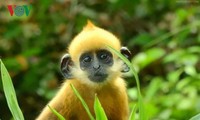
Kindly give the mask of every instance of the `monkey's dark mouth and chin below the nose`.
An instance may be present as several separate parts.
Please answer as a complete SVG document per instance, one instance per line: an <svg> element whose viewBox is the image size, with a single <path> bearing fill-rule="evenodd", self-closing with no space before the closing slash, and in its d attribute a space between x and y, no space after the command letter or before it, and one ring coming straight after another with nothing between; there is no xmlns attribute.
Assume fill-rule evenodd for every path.
<svg viewBox="0 0 200 120"><path fill-rule="evenodd" d="M95 73L93 75L88 76L89 79L93 82L103 82L106 80L108 77L107 74L102 74L102 73Z"/></svg>

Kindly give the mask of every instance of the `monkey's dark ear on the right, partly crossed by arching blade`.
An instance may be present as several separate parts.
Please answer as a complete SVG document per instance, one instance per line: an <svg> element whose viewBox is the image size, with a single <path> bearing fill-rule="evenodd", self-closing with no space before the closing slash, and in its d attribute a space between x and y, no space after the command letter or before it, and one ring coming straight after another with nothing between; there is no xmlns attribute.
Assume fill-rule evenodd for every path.
<svg viewBox="0 0 200 120"><path fill-rule="evenodd" d="M120 52L122 55L124 55L129 61L131 60L131 52L129 51L129 49L127 47L121 47ZM128 65L126 65L124 63L123 65L123 69L121 72L128 72L130 70L130 68L128 67Z"/></svg>

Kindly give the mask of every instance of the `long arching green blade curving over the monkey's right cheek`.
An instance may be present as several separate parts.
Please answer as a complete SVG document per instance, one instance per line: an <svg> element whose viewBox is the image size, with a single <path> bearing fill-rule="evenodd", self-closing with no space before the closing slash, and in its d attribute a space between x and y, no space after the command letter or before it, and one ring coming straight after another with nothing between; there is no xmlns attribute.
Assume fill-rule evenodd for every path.
<svg viewBox="0 0 200 120"><path fill-rule="evenodd" d="M123 56L117 50L113 49L111 46L107 46L107 47L113 53L115 53L118 57L120 57L128 65L128 67L130 68L130 71L133 73L135 80L136 80L137 90L138 90L139 117L140 117L140 120L147 120L147 115L145 112L146 110L145 110L143 98L142 98L141 91L140 91L140 82L139 82L139 78L138 78L136 70L133 68L131 62L129 62L129 60L125 56Z"/></svg>

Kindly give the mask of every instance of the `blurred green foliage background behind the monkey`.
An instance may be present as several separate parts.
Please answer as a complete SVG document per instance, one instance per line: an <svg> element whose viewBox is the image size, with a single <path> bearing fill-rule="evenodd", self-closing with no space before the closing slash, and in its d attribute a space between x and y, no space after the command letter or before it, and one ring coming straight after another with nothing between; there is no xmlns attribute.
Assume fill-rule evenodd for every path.
<svg viewBox="0 0 200 120"><path fill-rule="evenodd" d="M32 5L31 13L11 17L8 4ZM191 118L200 112L199 11L198 0L0 1L0 57L25 119L34 119L63 82L60 57L87 19L133 53L149 119ZM132 108L136 83L127 82ZM0 106L0 119L10 119L2 85Z"/></svg>

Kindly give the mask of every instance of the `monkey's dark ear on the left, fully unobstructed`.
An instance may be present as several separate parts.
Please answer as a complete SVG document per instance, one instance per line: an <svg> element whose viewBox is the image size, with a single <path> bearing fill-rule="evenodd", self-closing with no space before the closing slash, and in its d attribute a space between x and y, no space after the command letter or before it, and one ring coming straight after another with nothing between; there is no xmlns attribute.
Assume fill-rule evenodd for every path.
<svg viewBox="0 0 200 120"><path fill-rule="evenodd" d="M70 70L70 67L72 67L72 66L73 66L73 61L72 61L70 55L65 54L61 59L60 69L61 69L63 76L67 79L71 79L73 77L71 70Z"/></svg>

